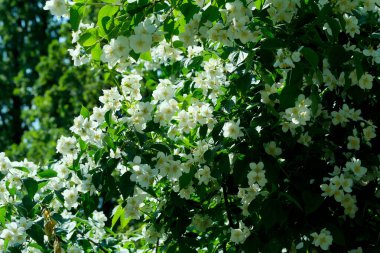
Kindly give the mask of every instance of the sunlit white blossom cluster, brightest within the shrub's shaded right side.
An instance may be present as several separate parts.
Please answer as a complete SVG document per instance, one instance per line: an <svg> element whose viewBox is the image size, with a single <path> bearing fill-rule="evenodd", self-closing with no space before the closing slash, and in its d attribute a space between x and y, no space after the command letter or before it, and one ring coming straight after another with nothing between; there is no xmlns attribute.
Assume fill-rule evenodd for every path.
<svg viewBox="0 0 380 253"><path fill-rule="evenodd" d="M282 122L282 131L286 133L290 130L290 132L294 135L297 127L305 126L311 119L310 106L311 100L309 98L305 98L305 95L300 94L297 98L295 106L286 109L285 114L283 114L285 121Z"/></svg>

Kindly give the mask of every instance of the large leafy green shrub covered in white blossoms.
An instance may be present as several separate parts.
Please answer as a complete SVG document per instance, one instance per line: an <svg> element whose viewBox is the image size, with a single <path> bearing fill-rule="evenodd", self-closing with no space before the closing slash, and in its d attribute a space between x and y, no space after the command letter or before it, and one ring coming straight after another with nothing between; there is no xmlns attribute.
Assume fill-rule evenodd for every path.
<svg viewBox="0 0 380 253"><path fill-rule="evenodd" d="M378 0L49 0L115 86L0 154L4 252L379 252Z"/></svg>

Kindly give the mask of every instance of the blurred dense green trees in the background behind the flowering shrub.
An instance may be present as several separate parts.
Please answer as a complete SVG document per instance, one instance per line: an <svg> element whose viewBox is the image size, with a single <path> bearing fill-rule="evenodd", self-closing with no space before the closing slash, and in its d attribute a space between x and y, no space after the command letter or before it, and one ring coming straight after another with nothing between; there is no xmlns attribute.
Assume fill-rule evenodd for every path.
<svg viewBox="0 0 380 253"><path fill-rule="evenodd" d="M53 159L81 106L93 107L107 86L95 71L73 66L70 28L44 4L0 1L0 152L14 160Z"/></svg>

